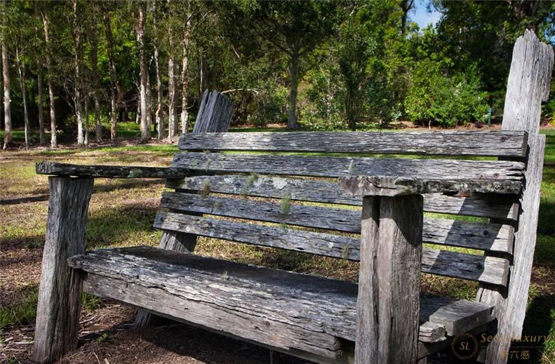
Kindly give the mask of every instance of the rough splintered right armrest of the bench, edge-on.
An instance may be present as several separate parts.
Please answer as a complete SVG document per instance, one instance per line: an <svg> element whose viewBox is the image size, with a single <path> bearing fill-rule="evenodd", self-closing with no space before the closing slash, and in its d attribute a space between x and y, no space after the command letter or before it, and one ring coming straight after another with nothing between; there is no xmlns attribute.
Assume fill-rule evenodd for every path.
<svg viewBox="0 0 555 364"><path fill-rule="evenodd" d="M427 180L381 175L339 177L339 187L353 196L407 196L422 193L457 192L461 197L479 193L520 193L519 181Z"/></svg>

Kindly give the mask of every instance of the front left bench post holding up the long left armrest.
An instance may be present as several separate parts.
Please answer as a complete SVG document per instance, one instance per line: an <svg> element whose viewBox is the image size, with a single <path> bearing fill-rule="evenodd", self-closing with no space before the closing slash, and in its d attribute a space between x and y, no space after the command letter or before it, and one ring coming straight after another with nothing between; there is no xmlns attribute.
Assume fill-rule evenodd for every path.
<svg viewBox="0 0 555 364"><path fill-rule="evenodd" d="M49 363L76 349L81 273L67 259L85 252L92 178L49 177L50 202L42 256L33 361Z"/></svg>

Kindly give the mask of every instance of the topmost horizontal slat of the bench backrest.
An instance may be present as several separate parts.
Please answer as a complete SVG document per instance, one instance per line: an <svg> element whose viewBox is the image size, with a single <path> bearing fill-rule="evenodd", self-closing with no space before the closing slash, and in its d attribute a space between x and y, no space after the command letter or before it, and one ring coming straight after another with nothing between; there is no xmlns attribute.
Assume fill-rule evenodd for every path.
<svg viewBox="0 0 555 364"><path fill-rule="evenodd" d="M525 132L222 132L184 134L184 150L523 157Z"/></svg>

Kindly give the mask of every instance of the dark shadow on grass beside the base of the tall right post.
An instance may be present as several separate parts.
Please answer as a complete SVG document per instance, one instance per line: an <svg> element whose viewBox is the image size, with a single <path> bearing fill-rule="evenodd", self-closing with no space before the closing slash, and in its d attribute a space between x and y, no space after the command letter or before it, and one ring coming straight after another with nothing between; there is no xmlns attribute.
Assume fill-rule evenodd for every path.
<svg viewBox="0 0 555 364"><path fill-rule="evenodd" d="M544 354L546 356L553 355L555 338L553 336L549 338L548 336L554 324L554 313L555 295L538 296L532 300L524 319L522 341L513 342L511 345L509 363L542 363L541 358ZM546 350L548 347L551 349ZM510 358L511 352L513 358ZM547 352L552 353L548 354ZM529 355L528 360L523 358L527 355ZM545 363L549 363L549 361Z"/></svg>

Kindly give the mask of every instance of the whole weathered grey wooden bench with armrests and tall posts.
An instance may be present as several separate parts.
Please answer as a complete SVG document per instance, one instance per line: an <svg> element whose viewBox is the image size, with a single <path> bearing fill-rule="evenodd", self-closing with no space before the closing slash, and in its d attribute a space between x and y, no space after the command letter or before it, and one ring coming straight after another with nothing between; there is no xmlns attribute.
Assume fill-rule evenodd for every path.
<svg viewBox="0 0 555 364"><path fill-rule="evenodd" d="M533 33L519 38L499 132L227 133L226 117L183 135L171 168L38 164L55 177L35 361L76 347L83 286L146 309L140 322L155 313L319 363L416 363L482 332L499 340L477 355L504 363L526 310L552 62ZM94 177L168 178L160 248L85 254ZM201 257L198 236L360 261L359 282ZM423 294L421 272L477 281L477 299Z"/></svg>

